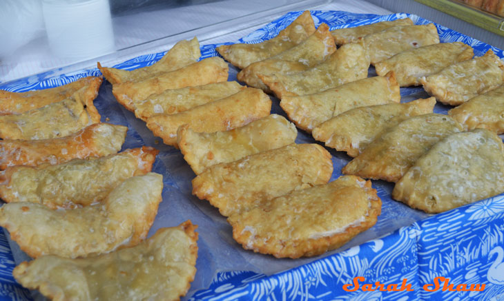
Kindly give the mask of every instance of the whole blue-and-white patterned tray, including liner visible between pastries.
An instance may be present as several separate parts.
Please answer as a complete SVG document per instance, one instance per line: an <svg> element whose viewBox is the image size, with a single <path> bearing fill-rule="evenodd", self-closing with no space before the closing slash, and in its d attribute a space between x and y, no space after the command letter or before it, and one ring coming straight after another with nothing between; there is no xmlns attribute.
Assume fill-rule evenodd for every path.
<svg viewBox="0 0 504 301"><path fill-rule="evenodd" d="M271 39L301 12L290 12L260 30L240 39L258 43ZM431 23L412 14L353 14L340 11L312 11L316 25L327 23L331 30L410 17L416 24ZM474 48L477 56L492 48L476 39L436 25L441 42L462 41ZM202 58L216 56L217 45L203 45ZM115 66L132 70L155 63L164 53L139 56ZM229 80L238 70L230 68ZM375 75L370 70L371 76ZM81 70L56 78L47 74L31 76L0 85L0 89L24 92L63 85L78 78L100 75L97 69ZM421 87L401 88L402 101L425 98ZM191 195L194 174L179 151L159 143L143 121L115 101L110 83L101 86L95 101L102 121L128 126L123 149L150 145L161 150L153 171L164 176L163 202L150 234L159 227L171 227L191 219L199 225L200 247L197 273L185 299L188 300L504 300L504 195L431 216L391 199L391 183L373 181L382 199L382 214L376 225L360 233L345 247L317 258L276 259L245 251L232 238L231 226L217 209ZM445 114L448 106L436 105L434 112ZM272 112L282 114L278 99L273 98ZM285 116L285 115L284 115ZM314 143L300 131L297 143ZM346 154L329 149L333 155L331 180L341 175L350 160ZM15 260L14 260L15 258ZM28 257L0 232L0 299L32 300L32 295L12 278L14 261ZM356 277L364 283L400 284L407 279L411 291L343 290ZM485 284L483 291L427 291L425 284L435 284L437 277L454 284ZM349 287L350 289L353 286ZM427 289L434 288L427 287ZM462 288L462 287L459 287ZM467 285L469 288L469 285Z"/></svg>

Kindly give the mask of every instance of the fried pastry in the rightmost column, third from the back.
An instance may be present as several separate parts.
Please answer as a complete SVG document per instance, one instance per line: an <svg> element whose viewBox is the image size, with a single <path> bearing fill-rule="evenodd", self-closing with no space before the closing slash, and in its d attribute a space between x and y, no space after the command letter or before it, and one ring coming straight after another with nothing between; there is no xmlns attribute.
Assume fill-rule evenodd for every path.
<svg viewBox="0 0 504 301"><path fill-rule="evenodd" d="M378 75L394 71L401 87L420 85L420 77L440 72L444 68L472 59L474 52L462 42L438 43L413 48L374 65Z"/></svg>

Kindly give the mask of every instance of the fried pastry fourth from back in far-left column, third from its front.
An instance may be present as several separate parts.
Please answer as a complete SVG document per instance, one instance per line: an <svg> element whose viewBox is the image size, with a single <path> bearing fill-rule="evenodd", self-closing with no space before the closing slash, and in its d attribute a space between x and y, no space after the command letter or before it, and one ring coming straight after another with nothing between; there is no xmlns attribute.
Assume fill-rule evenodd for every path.
<svg viewBox="0 0 504 301"><path fill-rule="evenodd" d="M7 203L40 203L52 209L88 206L104 200L126 178L151 172L158 152L142 147L59 165L8 167L0 174L0 198Z"/></svg>

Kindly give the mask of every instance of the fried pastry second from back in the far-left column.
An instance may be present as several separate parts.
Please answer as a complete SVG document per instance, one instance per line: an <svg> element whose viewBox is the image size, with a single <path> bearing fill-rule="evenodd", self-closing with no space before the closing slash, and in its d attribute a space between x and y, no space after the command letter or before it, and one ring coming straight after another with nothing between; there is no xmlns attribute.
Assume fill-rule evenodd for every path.
<svg viewBox="0 0 504 301"><path fill-rule="evenodd" d="M86 98L86 87L83 87L59 103L18 115L0 116L0 138L39 140L78 132L100 121L93 99Z"/></svg>

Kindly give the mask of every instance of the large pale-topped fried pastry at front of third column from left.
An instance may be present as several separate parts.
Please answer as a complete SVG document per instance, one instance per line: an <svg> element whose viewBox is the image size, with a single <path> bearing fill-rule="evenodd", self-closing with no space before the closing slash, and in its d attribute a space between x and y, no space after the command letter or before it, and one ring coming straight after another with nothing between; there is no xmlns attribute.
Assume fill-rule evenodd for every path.
<svg viewBox="0 0 504 301"><path fill-rule="evenodd" d="M395 200L438 213L504 192L504 145L487 129L452 134L399 180Z"/></svg>

